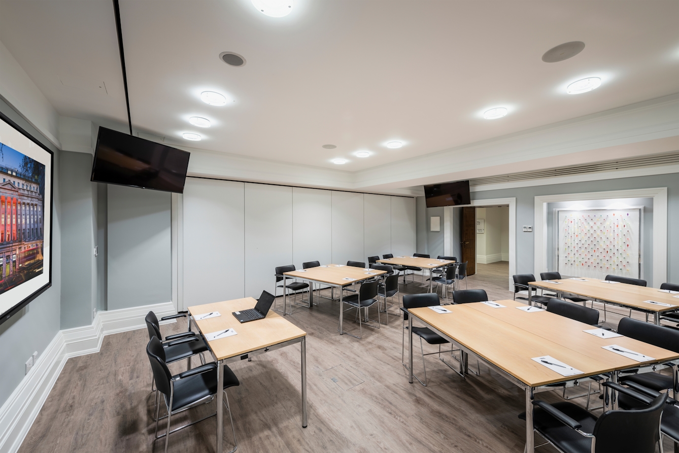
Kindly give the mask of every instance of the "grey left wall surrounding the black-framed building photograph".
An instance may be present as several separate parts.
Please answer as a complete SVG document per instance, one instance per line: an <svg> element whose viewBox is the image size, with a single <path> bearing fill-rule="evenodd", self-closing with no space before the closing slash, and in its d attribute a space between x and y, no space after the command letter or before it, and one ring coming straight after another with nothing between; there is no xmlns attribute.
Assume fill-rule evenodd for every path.
<svg viewBox="0 0 679 453"><path fill-rule="evenodd" d="M52 287L0 325L0 405L7 401L14 388L24 378L24 364L33 351L38 361L60 329L61 293L61 228L59 151L12 107L0 99L0 111L5 113L35 139L54 151L54 209L52 209Z"/></svg>

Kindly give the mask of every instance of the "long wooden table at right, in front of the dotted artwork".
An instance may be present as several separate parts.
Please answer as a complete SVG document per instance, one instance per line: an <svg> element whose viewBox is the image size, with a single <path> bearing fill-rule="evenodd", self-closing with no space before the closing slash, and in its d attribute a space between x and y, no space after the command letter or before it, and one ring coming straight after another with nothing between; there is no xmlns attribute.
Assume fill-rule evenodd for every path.
<svg viewBox="0 0 679 453"><path fill-rule="evenodd" d="M653 314L653 322L657 325L660 325L660 314L662 312L679 310L679 298L673 297L679 294L663 293L657 288L640 287L627 283L603 283L602 280L599 280L598 278L583 278L583 280L574 280L572 278L543 280L539 282L530 282L528 283L528 286L549 289L549 291L557 293L559 299L561 299L564 294L572 294L595 302L603 302L605 304L627 307L632 310ZM660 302L661 304L667 304L669 306L644 302L647 300ZM530 290L528 291L528 303L532 304L532 291Z"/></svg>

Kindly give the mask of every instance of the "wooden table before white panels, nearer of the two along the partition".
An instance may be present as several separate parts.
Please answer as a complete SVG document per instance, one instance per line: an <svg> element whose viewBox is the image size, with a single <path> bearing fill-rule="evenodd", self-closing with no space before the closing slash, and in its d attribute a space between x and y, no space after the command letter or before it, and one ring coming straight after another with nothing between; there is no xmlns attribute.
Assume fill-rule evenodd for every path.
<svg viewBox="0 0 679 453"><path fill-rule="evenodd" d="M339 335L342 335L342 325L344 321L344 309L342 307L342 288L354 283L386 274L385 270L354 268L344 264L324 264L316 268L304 270L293 270L285 272L284 276L299 278L310 283L321 283L331 287L339 287ZM309 306L314 303L314 291L309 291ZM285 301L287 300L287 287L283 278L283 316L285 316Z"/></svg>

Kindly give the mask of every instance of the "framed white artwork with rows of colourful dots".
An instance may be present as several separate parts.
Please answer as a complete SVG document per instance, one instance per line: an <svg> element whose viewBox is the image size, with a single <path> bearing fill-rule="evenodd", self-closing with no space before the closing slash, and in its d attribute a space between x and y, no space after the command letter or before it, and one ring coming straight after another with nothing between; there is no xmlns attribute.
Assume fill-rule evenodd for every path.
<svg viewBox="0 0 679 453"><path fill-rule="evenodd" d="M642 209L557 209L559 272L640 278Z"/></svg>

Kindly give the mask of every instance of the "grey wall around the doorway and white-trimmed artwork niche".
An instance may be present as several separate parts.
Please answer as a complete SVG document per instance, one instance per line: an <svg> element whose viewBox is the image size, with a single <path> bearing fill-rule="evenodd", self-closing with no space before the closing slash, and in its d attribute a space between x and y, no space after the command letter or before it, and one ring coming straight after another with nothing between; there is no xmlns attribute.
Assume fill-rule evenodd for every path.
<svg viewBox="0 0 679 453"><path fill-rule="evenodd" d="M515 197L516 206L516 253L517 274L532 274L534 271L534 233L521 231L522 225L533 225L534 202L536 196L557 194L579 194L583 192L604 192L623 189L646 189L650 187L667 187L667 279L679 283L679 174L641 176L633 178L606 179L604 181L585 181L579 183L539 185L535 187L517 187L514 189L485 190L472 192L472 200L490 198ZM422 198L419 197L418 200ZM427 210L430 211L430 210ZM455 229L459 222L460 209L454 209L454 237L452 244L460 242L460 230ZM420 211L418 211L420 215ZM428 215L428 213L426 213ZM420 219L418 219L420 221ZM419 225L419 223L418 223ZM459 228L459 226L458 226ZM418 229L418 244L423 234ZM454 249L458 251L458 249ZM429 251L429 253L435 253ZM646 275L646 280L652 280Z"/></svg>

